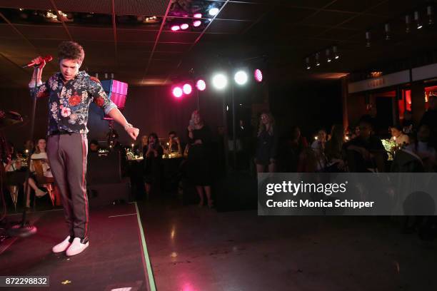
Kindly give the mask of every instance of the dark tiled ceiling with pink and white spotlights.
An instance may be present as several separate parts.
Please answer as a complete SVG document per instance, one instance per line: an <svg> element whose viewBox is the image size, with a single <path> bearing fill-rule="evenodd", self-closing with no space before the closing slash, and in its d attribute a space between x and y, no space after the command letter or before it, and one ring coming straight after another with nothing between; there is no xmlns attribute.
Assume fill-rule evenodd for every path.
<svg viewBox="0 0 437 291"><path fill-rule="evenodd" d="M256 63L271 79L286 82L338 78L436 49L436 24L418 30L413 19L417 10L427 24L426 7L435 2L1 0L0 86L24 86L30 72L20 65L39 54L56 56L62 40L84 46L84 66L90 73L114 73L132 86L163 85L188 75L191 68L206 73L229 63ZM206 13L211 6L220 9L216 16ZM41 15L49 10L68 17L57 14L60 20L46 21ZM195 13L203 17L199 27L171 31L173 24L191 24ZM411 15L409 34L406 14ZM156 19L145 20L152 16ZM384 39L386 23L390 41ZM338 47L341 58L326 63L326 48L332 46ZM317 52L321 66L306 70L305 58L310 56L313 65ZM56 62L46 68L47 76L54 73Z"/></svg>

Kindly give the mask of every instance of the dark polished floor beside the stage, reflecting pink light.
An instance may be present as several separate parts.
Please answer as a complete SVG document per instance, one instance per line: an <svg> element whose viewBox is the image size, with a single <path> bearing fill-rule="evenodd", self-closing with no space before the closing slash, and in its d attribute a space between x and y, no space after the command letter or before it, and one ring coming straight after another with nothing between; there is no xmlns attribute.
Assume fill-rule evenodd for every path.
<svg viewBox="0 0 437 291"><path fill-rule="evenodd" d="M437 241L388 217L139 204L159 291L437 290Z"/></svg>

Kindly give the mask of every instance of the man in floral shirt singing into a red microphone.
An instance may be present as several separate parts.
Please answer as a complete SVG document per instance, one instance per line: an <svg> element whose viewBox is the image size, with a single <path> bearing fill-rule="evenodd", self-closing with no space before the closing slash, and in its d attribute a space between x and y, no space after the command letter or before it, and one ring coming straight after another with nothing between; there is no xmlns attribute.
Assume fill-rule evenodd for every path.
<svg viewBox="0 0 437 291"><path fill-rule="evenodd" d="M89 245L89 211L86 196L86 123L89 105L94 101L106 115L124 126L131 138L136 139L139 129L126 121L112 103L99 81L84 71L79 71L84 61L84 49L73 41L59 45L60 73L55 73L45 83L41 82L42 68L46 62L39 56L32 63L39 64L29 83L37 97L49 96L49 131L47 153L56 184L61 191L62 205L69 235L53 247L53 252L77 255ZM37 87L35 86L37 81Z"/></svg>

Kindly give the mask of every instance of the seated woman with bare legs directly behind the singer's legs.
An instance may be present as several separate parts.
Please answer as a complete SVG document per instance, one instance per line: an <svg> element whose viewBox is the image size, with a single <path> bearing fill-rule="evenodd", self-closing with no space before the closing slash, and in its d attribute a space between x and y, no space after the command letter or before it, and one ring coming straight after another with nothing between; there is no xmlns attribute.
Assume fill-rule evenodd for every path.
<svg viewBox="0 0 437 291"><path fill-rule="evenodd" d="M27 188L27 192L26 192L26 208L30 208L31 189L34 189L36 197L42 197L47 194L43 190L39 189L35 182L36 178L35 178L34 163L36 163L36 160L41 161L44 177L53 177L50 171L49 160L47 158L47 153L46 153L46 140L44 138L41 138L38 141L38 143L36 143L35 152L31 155L31 160L30 160L31 176L29 178L29 187ZM26 182L24 182L24 188L26 188Z"/></svg>

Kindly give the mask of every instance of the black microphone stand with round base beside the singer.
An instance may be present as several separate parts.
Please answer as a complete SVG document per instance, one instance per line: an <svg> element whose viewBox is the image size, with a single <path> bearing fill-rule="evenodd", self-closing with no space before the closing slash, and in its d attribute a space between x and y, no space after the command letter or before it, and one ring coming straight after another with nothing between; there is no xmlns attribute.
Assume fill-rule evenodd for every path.
<svg viewBox="0 0 437 291"><path fill-rule="evenodd" d="M30 138L29 140L33 140L34 138L34 130L35 130L35 112L36 112L36 87L38 86L38 74L39 74L39 64L35 65L35 86L34 86L34 93L32 94L32 108L31 108L31 131L30 131ZM26 238L30 235L34 235L37 231L36 226L30 225L29 222L26 222L26 196L27 192L29 191L29 177L30 177L30 165L31 165L31 158L29 155L29 158L27 158L27 170L26 170L26 180L24 181L24 195L23 195L23 216L21 218L21 223L12 225L12 227L8 230L8 234L14 237L21 237Z"/></svg>

